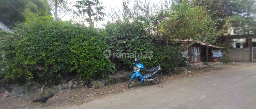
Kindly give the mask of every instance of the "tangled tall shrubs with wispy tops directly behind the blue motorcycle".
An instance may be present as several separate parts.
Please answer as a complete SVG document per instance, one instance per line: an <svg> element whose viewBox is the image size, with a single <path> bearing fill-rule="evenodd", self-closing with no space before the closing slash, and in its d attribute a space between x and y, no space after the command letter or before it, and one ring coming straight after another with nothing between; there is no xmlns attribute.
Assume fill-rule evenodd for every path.
<svg viewBox="0 0 256 109"><path fill-rule="evenodd" d="M152 52L153 57L145 53L143 53L146 55L145 57L139 57L145 67L161 66L162 73L173 73L180 62L178 61L180 50L171 46L172 43L168 38L170 34L162 33L159 30L163 21L170 17L171 11L160 7L160 12L154 12L151 9L158 7L146 4L146 2L145 4L135 3L133 8L130 8L129 1L123 1L121 11L113 10L113 13L110 14L113 22L108 22L105 29L111 36L108 41L111 45L111 51L115 53ZM166 4L165 6L169 5ZM114 58L112 60L117 67L132 67L134 58Z"/></svg>

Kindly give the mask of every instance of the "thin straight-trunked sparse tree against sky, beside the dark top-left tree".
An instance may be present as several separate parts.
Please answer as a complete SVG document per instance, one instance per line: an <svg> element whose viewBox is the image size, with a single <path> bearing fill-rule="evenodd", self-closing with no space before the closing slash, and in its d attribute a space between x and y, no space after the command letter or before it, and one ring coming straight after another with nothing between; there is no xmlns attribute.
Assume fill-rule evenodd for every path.
<svg viewBox="0 0 256 109"><path fill-rule="evenodd" d="M48 0L48 2L55 21L66 16L73 7L69 6L70 3L67 0ZM60 14L64 15L60 17Z"/></svg>

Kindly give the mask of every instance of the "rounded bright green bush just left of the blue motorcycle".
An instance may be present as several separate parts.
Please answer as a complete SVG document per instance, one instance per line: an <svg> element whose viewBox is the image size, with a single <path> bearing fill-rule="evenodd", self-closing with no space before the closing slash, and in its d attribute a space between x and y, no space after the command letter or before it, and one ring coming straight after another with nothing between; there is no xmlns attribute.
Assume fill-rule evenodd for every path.
<svg viewBox="0 0 256 109"><path fill-rule="evenodd" d="M115 72L115 65L105 59L103 51L109 49L105 41L95 36L78 36L72 40L71 57L79 77L90 79L93 76L104 77L106 72Z"/></svg>

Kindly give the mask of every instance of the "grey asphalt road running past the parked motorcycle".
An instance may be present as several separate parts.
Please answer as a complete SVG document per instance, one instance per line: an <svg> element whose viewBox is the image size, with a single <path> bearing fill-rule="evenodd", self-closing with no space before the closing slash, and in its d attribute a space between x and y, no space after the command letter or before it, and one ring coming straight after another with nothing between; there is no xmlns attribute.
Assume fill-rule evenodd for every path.
<svg viewBox="0 0 256 109"><path fill-rule="evenodd" d="M256 63L157 85L137 85L124 93L69 109L256 109Z"/></svg>

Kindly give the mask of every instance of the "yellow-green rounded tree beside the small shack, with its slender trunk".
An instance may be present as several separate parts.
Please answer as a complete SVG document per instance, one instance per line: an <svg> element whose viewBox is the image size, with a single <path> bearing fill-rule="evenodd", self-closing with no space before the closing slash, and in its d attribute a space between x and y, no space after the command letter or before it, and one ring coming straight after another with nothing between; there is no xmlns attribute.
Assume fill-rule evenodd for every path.
<svg viewBox="0 0 256 109"><path fill-rule="evenodd" d="M184 1L173 3L169 12L158 33L162 35L163 45L168 45L168 41L186 41L180 48L178 61L182 60L182 52L194 44L190 42L215 42L218 32L215 31L214 21L205 7Z"/></svg>

